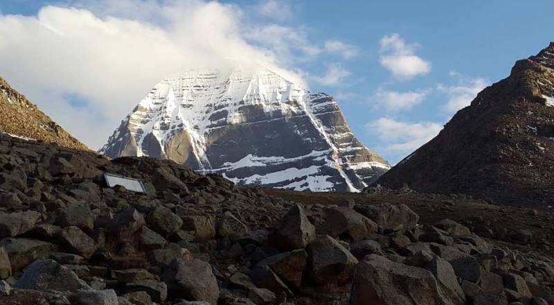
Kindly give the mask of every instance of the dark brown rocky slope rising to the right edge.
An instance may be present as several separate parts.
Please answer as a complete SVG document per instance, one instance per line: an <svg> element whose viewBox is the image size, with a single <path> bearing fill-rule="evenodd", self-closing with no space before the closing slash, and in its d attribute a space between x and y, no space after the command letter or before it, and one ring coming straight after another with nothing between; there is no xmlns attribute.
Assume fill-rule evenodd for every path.
<svg viewBox="0 0 554 305"><path fill-rule="evenodd" d="M554 43L519 60L377 184L500 204L554 200Z"/></svg>

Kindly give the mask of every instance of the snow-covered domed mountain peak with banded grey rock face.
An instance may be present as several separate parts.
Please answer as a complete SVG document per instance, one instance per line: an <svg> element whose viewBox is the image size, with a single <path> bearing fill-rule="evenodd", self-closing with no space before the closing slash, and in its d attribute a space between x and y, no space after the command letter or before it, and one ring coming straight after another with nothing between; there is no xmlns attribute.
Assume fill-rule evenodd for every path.
<svg viewBox="0 0 554 305"><path fill-rule="evenodd" d="M352 134L332 96L244 65L161 81L100 153L296 191L360 191L390 168Z"/></svg>

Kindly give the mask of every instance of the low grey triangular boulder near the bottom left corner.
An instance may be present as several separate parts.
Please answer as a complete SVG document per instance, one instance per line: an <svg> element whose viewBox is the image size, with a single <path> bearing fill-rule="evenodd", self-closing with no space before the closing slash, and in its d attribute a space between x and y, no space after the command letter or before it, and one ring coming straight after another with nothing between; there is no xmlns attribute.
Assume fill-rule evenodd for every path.
<svg viewBox="0 0 554 305"><path fill-rule="evenodd" d="M90 289L73 271L51 259L30 264L14 288L57 291Z"/></svg>

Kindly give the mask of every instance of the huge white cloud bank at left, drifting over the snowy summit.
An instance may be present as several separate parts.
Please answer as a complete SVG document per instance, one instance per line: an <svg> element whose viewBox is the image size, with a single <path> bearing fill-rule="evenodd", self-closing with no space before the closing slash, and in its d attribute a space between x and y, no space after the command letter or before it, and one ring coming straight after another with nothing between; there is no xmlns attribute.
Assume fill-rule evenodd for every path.
<svg viewBox="0 0 554 305"><path fill-rule="evenodd" d="M305 86L303 72L290 67L321 52L301 30L252 26L240 7L215 1L68 2L75 8L0 15L0 71L91 148L102 146L150 88L176 72L224 67L228 57L265 64ZM321 80L344 75L339 70ZM72 106L72 95L84 105Z"/></svg>

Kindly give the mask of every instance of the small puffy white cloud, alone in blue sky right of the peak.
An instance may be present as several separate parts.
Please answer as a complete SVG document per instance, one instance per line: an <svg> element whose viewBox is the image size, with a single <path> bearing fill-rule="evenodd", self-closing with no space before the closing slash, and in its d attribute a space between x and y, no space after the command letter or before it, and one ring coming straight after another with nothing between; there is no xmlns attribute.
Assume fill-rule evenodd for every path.
<svg viewBox="0 0 554 305"><path fill-rule="evenodd" d="M408 79L431 71L431 62L415 55L418 44L407 44L398 34L385 35L379 42L381 65L395 78Z"/></svg>

